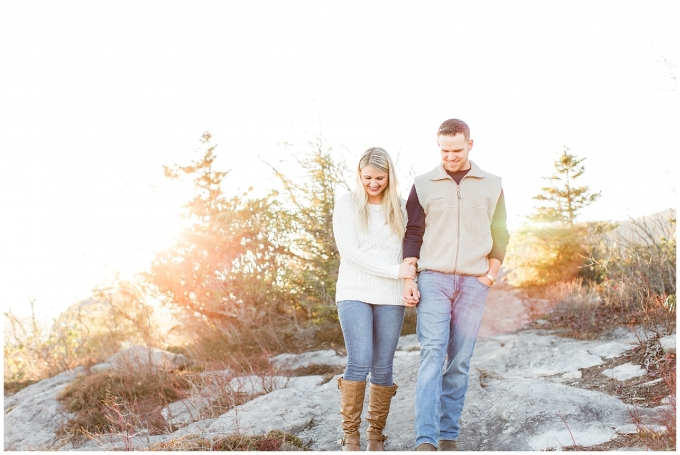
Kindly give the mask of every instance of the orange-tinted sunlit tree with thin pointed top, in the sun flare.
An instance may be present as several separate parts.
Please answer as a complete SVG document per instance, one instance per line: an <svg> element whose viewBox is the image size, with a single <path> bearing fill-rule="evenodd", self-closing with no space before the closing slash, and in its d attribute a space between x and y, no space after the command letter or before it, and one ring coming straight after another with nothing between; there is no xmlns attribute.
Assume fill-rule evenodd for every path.
<svg viewBox="0 0 680 455"><path fill-rule="evenodd" d="M159 253L148 279L162 296L190 315L223 330L265 324L263 317L285 313L281 289L290 228L281 217L276 193L264 198L228 198L221 184L228 171L214 168L210 145L187 166L165 168L171 179L190 177L196 195L185 204L189 223L174 244Z"/></svg>

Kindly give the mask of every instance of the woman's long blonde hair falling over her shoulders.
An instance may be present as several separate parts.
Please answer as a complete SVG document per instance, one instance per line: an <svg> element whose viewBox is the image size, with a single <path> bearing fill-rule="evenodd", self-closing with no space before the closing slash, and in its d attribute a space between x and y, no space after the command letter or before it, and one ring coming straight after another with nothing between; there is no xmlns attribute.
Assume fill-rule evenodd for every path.
<svg viewBox="0 0 680 455"><path fill-rule="evenodd" d="M387 172L387 187L383 190L383 213L390 227L390 231L400 238L404 236L406 227L404 226L404 212L401 209L401 198L399 197L399 184L397 175L394 172L394 164L389 153L382 147L371 147L366 150L359 158L357 166L357 185L352 191L352 202L354 209L359 214L359 220L364 230L368 230L368 195L361 181L361 170L366 166Z"/></svg>

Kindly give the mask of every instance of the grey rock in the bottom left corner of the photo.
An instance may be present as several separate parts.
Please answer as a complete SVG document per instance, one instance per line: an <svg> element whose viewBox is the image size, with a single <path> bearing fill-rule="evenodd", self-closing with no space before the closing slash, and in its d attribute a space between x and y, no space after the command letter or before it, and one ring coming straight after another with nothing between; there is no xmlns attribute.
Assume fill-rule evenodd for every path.
<svg viewBox="0 0 680 455"><path fill-rule="evenodd" d="M64 371L5 399L5 450L47 450L57 443L56 430L69 417L57 395L85 368Z"/></svg>

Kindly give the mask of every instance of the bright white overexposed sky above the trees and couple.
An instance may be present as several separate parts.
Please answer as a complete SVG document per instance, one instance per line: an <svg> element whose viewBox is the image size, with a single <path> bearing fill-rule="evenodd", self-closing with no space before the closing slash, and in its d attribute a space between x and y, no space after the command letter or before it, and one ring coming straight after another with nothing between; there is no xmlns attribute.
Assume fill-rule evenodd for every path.
<svg viewBox="0 0 680 455"><path fill-rule="evenodd" d="M679 13L675 0L3 2L0 301L55 316L144 269L186 195L162 166L187 163L206 130L230 192L264 192L258 157L318 134L350 166L382 146L419 174L455 117L471 158L503 177L511 228L563 145L602 191L583 219L676 206Z"/></svg>

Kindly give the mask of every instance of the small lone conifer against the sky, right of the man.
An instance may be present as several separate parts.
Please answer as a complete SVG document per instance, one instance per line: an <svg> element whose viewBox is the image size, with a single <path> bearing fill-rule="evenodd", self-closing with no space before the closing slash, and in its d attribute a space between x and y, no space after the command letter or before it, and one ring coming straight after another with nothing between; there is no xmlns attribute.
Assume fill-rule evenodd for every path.
<svg viewBox="0 0 680 455"><path fill-rule="evenodd" d="M564 147L560 156L555 160L556 172L550 177L551 186L541 189L541 193L534 196L537 201L546 205L538 207L531 219L539 222L560 222L573 226L581 209L589 206L600 197L600 192L593 193L587 186L575 186L574 180L585 172L581 164L585 158L578 158L569 153Z"/></svg>

